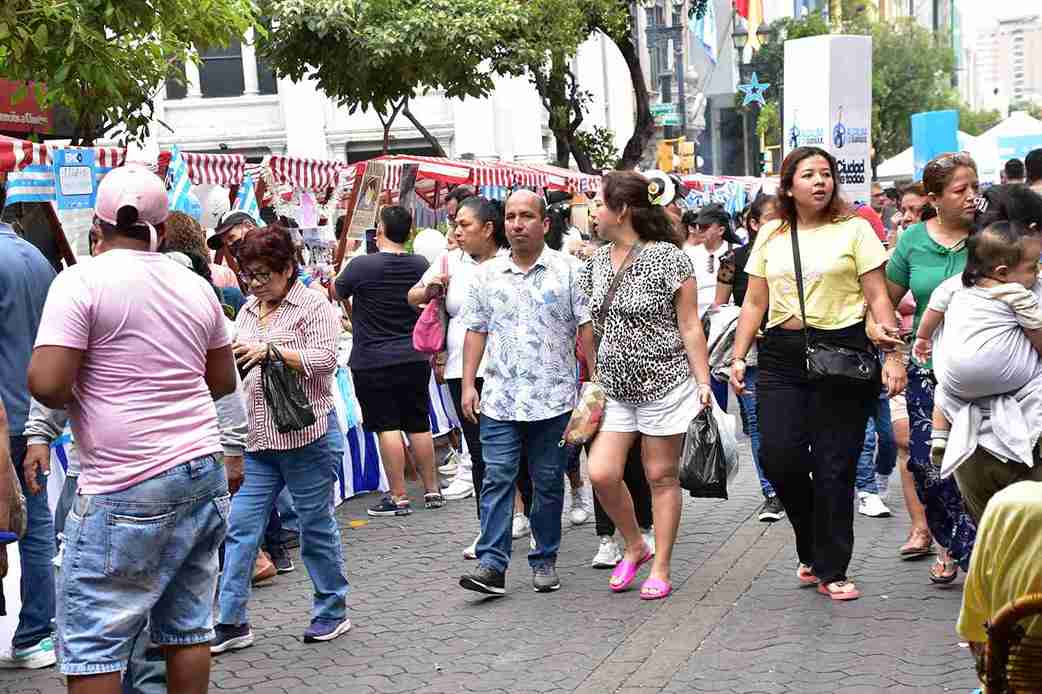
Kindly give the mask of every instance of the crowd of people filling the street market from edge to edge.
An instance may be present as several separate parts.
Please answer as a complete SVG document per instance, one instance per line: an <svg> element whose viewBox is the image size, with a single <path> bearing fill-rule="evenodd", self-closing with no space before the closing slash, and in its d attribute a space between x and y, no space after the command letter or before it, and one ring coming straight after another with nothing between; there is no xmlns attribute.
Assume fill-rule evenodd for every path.
<svg viewBox="0 0 1042 694"><path fill-rule="evenodd" d="M668 598L684 437L733 391L760 520L794 532L794 585L862 595L854 515L890 515L898 468L912 527L895 557L936 543L932 581L969 570L959 629L981 642L995 596L1042 575L999 550L1037 544L1042 504L1042 150L1023 168L1027 183L981 191L974 162L945 154L921 182L851 205L836 159L800 147L776 193L737 219L686 209L665 174L612 172L589 237L567 200L460 187L447 236L421 240L388 203L375 247L347 242L328 283L303 271L292 219L231 210L207 239L134 165L102 180L93 257L60 273L0 224L0 445L28 515L0 665L57 661L73 693L205 692L212 654L254 642L251 587L293 571L298 544L314 587L303 640L346 634L333 506L345 337L388 484L368 514L413 513L410 467L427 510L473 496L463 589L504 595L525 535L534 590L562 588L566 489L571 522L590 516L585 456L591 566L623 593L649 564L637 594ZM433 354L415 340L432 304L445 316ZM603 389L603 414L573 450L561 444L586 381ZM428 400L443 387L462 436L439 468ZM46 475L67 422L77 454L52 516ZM1015 585L998 585L1003 556Z"/></svg>

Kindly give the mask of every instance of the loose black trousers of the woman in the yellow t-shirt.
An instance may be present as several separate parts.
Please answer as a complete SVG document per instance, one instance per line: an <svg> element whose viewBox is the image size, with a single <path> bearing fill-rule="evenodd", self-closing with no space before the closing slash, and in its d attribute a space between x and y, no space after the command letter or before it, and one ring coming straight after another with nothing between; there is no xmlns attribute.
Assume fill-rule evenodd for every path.
<svg viewBox="0 0 1042 694"><path fill-rule="evenodd" d="M867 348L865 325L812 330L812 340ZM760 463L796 534L799 561L823 583L844 580L853 553L858 457L878 380L812 381L803 333L771 328L760 343Z"/></svg>

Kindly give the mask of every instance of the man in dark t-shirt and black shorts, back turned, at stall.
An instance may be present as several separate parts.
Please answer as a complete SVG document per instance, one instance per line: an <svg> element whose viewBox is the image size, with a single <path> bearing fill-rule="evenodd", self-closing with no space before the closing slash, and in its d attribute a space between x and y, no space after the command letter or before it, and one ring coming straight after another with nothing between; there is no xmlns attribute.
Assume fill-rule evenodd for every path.
<svg viewBox="0 0 1042 694"><path fill-rule="evenodd" d="M413 349L413 328L418 318L408 305L408 290L427 270L422 255L405 251L413 216L397 205L380 210L376 228L379 252L351 261L337 278L337 296L348 305L353 342L348 365L362 405L366 429L375 431L391 487L370 516L407 516L412 513L405 491L405 447L408 436L426 494L424 505L444 504L435 469L427 388L430 364ZM348 304L350 300L350 304Z"/></svg>

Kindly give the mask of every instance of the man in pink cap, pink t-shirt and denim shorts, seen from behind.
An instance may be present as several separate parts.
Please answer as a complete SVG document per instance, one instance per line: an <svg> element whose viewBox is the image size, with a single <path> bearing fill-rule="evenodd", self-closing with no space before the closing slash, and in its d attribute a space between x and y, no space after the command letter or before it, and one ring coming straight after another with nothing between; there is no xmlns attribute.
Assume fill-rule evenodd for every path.
<svg viewBox="0 0 1042 694"><path fill-rule="evenodd" d="M72 694L117 694L149 620L169 690L197 694L229 506L214 398L235 388L230 338L213 289L156 252L159 178L115 169L95 215L104 252L54 280L28 372L38 400L69 410L81 463L58 561L60 669Z"/></svg>

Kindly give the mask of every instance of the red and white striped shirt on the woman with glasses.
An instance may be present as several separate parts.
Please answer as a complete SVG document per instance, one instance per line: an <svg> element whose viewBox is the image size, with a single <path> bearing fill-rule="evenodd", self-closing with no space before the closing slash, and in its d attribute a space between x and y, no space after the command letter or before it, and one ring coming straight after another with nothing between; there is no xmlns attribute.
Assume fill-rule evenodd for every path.
<svg viewBox="0 0 1042 694"><path fill-rule="evenodd" d="M239 342L266 342L300 354L303 373L296 372L307 401L315 410L315 423L299 431L279 433L271 408L264 398L260 383L262 367L246 375L246 412L250 432L246 450L288 450L302 448L325 436L329 411L333 407L332 374L337 369L337 338L340 318L328 301L294 282L282 303L269 317L268 325L260 325L259 302L256 297L239 312L235 320L235 340Z"/></svg>

